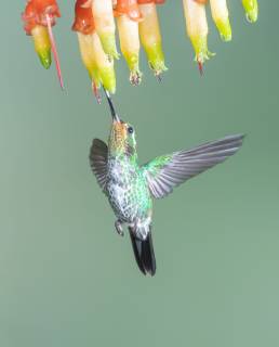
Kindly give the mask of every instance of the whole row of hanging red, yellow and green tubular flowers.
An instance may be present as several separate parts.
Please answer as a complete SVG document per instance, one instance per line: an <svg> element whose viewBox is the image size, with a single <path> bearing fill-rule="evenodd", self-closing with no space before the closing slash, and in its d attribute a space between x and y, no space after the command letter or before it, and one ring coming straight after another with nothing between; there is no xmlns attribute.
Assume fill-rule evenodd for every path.
<svg viewBox="0 0 279 347"><path fill-rule="evenodd" d="M130 81L137 86L142 80L140 49L144 48L149 66L160 80L167 70L162 50L157 5L165 0L77 0L72 30L77 33L81 59L89 72L94 93L104 86L111 93L116 91L115 60L119 59L116 44L116 26L120 49L130 69ZM195 60L202 73L202 66L213 53L208 49L208 21L205 7L211 13L222 40L231 40L229 12L226 0L183 0L186 33L191 41ZM242 0L247 20L257 20L257 0ZM57 74L63 87L57 50L52 27L59 17L56 0L27 1L23 21L25 31L31 35L35 50L42 65L51 65L53 53Z"/></svg>

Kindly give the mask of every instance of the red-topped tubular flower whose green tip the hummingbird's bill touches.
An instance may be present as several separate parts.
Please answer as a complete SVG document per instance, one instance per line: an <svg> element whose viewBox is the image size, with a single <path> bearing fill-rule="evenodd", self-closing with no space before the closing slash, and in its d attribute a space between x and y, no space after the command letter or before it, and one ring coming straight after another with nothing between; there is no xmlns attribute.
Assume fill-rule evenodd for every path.
<svg viewBox="0 0 279 347"><path fill-rule="evenodd" d="M77 0L72 30L78 34L81 59L89 72L93 91L98 100L97 89L101 85L111 93L116 91L114 60L109 60L104 52L95 31L91 1Z"/></svg>

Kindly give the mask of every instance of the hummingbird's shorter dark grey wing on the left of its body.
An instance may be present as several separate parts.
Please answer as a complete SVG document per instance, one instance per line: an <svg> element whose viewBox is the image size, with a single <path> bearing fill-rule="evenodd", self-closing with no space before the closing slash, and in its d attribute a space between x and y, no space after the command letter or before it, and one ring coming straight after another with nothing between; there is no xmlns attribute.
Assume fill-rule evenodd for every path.
<svg viewBox="0 0 279 347"><path fill-rule="evenodd" d="M107 179L107 145L98 139L94 139L90 149L90 166L96 176L97 182L104 190Z"/></svg>

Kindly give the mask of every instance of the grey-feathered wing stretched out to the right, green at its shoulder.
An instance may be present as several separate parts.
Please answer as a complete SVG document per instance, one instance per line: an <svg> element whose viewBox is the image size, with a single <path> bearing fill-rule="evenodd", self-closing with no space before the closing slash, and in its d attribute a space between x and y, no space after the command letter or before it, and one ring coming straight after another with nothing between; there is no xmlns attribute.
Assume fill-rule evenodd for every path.
<svg viewBox="0 0 279 347"><path fill-rule="evenodd" d="M189 151L158 156L143 166L149 190L154 197L164 197L191 177L224 162L242 144L243 134L207 142Z"/></svg>

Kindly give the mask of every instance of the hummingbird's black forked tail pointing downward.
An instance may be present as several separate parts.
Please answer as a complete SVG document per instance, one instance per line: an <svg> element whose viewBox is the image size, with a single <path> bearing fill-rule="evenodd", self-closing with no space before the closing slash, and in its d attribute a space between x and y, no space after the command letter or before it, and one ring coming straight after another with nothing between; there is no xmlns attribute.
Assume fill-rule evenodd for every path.
<svg viewBox="0 0 279 347"><path fill-rule="evenodd" d="M154 254L154 244L151 231L148 232L145 240L136 237L133 228L129 228L132 246L135 255L135 260L140 270L147 274L155 275L156 272L156 259Z"/></svg>

